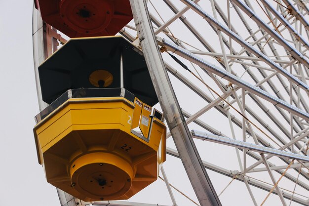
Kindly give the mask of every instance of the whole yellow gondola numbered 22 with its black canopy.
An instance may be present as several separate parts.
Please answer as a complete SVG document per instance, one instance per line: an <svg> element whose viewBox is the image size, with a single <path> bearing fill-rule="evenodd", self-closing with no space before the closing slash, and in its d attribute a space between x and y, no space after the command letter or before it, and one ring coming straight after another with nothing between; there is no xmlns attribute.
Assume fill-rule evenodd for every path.
<svg viewBox="0 0 309 206"><path fill-rule="evenodd" d="M85 56L91 59L104 42L114 45L91 64ZM82 59L72 56L80 53ZM56 99L36 117L34 128L49 183L83 201L98 201L128 199L157 179L158 165L165 161L166 127L161 113L151 115L157 98L145 65L135 47L113 37L69 41L40 66L42 96ZM84 85L90 88L80 88Z"/></svg>

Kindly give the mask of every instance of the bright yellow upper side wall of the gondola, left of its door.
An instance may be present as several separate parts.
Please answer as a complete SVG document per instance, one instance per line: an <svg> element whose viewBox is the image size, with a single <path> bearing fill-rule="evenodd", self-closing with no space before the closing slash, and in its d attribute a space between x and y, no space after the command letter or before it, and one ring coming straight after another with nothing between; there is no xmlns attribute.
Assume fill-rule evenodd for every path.
<svg viewBox="0 0 309 206"><path fill-rule="evenodd" d="M98 129L121 128L130 133L133 108L122 101L116 102L75 102L68 104L58 113L54 113L44 124L35 127L40 147L46 151L49 142L59 141L72 129L71 125L87 125L86 128L97 127ZM69 131L66 131L66 130ZM66 132L65 132L66 131ZM64 132L63 134L61 134ZM42 134L41 134L42 133ZM54 143L51 142L51 145Z"/></svg>

